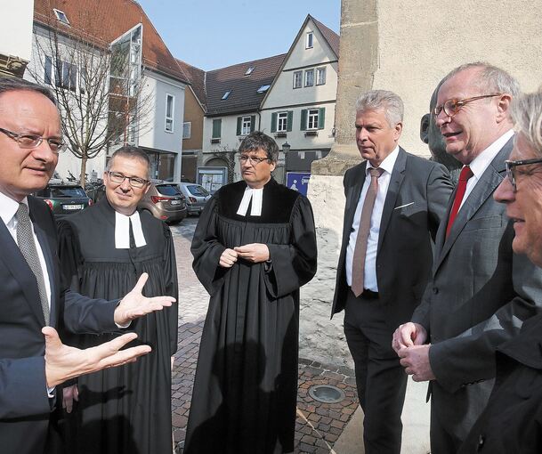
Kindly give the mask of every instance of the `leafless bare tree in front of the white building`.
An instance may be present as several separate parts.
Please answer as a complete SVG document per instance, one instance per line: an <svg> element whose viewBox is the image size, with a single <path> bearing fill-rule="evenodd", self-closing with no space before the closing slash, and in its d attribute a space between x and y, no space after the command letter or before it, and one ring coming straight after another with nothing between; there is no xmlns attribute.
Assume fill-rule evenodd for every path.
<svg viewBox="0 0 542 454"><path fill-rule="evenodd" d="M86 163L111 146L135 144L151 105L142 93L141 29L138 45L133 36L108 36L94 12L77 20L84 28L69 28L48 20L37 28L34 60L30 70L36 81L50 85L62 112L62 133L69 151L81 159L79 180L85 187ZM137 28L133 28L137 33ZM110 34L109 34L110 35ZM137 49L136 49L137 51Z"/></svg>

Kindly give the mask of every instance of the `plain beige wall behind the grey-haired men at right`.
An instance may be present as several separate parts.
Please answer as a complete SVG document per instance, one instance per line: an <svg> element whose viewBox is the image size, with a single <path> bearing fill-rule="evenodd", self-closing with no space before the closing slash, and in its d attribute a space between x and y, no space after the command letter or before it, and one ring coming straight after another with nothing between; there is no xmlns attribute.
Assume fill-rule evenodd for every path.
<svg viewBox="0 0 542 454"><path fill-rule="evenodd" d="M373 86L395 91L405 101L401 143L407 150L429 154L419 139L420 118L441 78L460 64L489 61L517 77L525 91L540 85L540 11L542 0L378 2Z"/></svg>

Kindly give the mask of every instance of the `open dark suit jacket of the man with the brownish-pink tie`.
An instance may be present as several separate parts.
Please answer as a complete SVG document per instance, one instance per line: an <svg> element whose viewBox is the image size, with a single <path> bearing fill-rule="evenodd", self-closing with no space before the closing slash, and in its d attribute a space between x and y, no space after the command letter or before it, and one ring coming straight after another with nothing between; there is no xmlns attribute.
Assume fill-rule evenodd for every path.
<svg viewBox="0 0 542 454"><path fill-rule="evenodd" d="M348 294L344 261L366 167L367 161L344 174L343 244L332 316L344 309ZM433 263L432 237L445 214L452 189L444 166L400 148L384 201L376 253L378 292L391 329L410 319L424 294ZM409 205L411 202L414 203Z"/></svg>

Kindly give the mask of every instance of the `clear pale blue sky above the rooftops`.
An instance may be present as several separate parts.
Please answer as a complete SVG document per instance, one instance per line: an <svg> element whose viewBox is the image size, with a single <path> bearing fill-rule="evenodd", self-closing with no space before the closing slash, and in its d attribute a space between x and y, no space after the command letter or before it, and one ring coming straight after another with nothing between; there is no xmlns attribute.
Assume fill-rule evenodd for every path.
<svg viewBox="0 0 542 454"><path fill-rule="evenodd" d="M339 32L341 0L138 0L175 58L206 71L287 53L307 14Z"/></svg>

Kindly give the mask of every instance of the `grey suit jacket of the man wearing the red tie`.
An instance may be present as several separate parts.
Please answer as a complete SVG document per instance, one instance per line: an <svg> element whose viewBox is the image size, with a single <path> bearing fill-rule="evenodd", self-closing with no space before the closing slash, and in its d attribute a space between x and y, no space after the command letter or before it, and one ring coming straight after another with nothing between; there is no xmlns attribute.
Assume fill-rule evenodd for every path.
<svg viewBox="0 0 542 454"><path fill-rule="evenodd" d="M412 317L432 343L433 411L441 424L457 427L460 439L488 401L493 382L477 382L495 376L497 345L538 311L534 302L542 304L542 272L526 256L514 255L506 206L493 199L512 147L511 139L481 175L448 239L441 224L433 280Z"/></svg>

